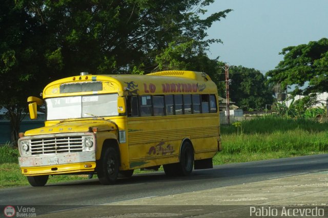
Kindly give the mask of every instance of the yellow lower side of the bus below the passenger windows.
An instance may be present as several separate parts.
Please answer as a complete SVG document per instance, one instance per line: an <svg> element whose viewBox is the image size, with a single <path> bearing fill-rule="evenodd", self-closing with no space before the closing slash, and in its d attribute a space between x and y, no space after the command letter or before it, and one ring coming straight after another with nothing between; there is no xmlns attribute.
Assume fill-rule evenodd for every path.
<svg viewBox="0 0 328 218"><path fill-rule="evenodd" d="M190 139L195 160L212 158L217 152L217 114L128 118L130 168L179 161L183 139Z"/></svg>

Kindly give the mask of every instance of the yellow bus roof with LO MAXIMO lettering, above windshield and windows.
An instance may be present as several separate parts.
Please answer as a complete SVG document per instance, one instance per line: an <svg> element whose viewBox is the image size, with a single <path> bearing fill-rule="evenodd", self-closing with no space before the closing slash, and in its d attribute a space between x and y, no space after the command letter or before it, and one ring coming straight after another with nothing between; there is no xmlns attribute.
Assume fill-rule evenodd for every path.
<svg viewBox="0 0 328 218"><path fill-rule="evenodd" d="M51 82L43 97L119 93L128 95L217 93L216 84L202 72L160 71L147 75L80 75Z"/></svg>

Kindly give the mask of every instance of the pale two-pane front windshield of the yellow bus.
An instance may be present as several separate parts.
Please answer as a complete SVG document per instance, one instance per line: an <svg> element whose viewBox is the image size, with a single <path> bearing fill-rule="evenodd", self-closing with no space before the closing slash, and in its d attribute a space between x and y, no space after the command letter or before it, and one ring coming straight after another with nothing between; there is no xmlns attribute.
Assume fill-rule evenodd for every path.
<svg viewBox="0 0 328 218"><path fill-rule="evenodd" d="M46 99L47 120L118 116L118 94Z"/></svg>

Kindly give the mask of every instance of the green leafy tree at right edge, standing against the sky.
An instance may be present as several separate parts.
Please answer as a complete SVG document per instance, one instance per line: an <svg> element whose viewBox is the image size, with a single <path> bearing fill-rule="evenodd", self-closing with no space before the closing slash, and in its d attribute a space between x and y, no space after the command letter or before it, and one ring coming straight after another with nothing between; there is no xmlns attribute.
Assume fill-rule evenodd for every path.
<svg viewBox="0 0 328 218"><path fill-rule="evenodd" d="M269 82L282 87L296 85L294 95L328 91L328 39L310 41L307 45L282 49L284 55L275 70L269 71ZM304 84L305 89L300 89Z"/></svg>

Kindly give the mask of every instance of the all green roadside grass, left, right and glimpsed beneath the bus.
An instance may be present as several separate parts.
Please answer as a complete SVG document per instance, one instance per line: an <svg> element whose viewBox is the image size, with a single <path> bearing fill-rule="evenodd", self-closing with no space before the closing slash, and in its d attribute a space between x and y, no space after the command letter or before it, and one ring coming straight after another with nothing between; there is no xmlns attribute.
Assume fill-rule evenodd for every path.
<svg viewBox="0 0 328 218"><path fill-rule="evenodd" d="M324 154L328 152L327 129L328 123L271 116L222 125L223 150L213 162L218 165ZM0 146L0 188L29 184L20 173L17 158L16 148L9 144ZM135 170L135 173L140 173L140 170ZM87 178L86 175L54 176L48 183Z"/></svg>

